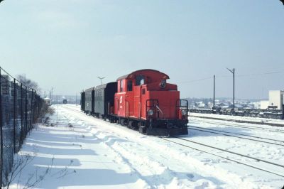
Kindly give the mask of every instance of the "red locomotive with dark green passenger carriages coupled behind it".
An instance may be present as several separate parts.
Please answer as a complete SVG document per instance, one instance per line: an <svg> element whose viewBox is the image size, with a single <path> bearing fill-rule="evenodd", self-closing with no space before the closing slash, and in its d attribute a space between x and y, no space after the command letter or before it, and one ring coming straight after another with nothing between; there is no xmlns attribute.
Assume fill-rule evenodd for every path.
<svg viewBox="0 0 284 189"><path fill-rule="evenodd" d="M81 110L153 136L187 135L188 102L158 70L136 70L81 92Z"/></svg>

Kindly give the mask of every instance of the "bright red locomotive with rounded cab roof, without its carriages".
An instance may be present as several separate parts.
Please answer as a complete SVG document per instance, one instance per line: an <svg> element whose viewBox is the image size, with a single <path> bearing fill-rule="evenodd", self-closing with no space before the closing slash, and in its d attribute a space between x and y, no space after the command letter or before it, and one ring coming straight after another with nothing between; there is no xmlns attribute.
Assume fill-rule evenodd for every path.
<svg viewBox="0 0 284 189"><path fill-rule="evenodd" d="M121 124L143 134L172 136L188 134L187 100L180 99L177 85L157 70L138 70L117 79L114 113Z"/></svg>

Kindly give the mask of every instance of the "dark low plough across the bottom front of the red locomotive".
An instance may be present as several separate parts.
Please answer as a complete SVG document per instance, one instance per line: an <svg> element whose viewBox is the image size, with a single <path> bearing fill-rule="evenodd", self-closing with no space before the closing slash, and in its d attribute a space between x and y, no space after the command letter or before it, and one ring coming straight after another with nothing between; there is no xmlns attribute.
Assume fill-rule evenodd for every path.
<svg viewBox="0 0 284 189"><path fill-rule="evenodd" d="M178 129L162 129L162 128L147 128L147 135L153 136L177 136L177 135L187 135L187 128L178 128Z"/></svg>

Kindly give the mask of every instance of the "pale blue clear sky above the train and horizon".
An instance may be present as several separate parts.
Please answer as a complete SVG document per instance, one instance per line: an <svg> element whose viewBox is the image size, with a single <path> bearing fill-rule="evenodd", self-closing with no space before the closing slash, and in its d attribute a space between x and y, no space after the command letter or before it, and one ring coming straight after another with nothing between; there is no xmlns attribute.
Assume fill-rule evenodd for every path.
<svg viewBox="0 0 284 189"><path fill-rule="evenodd" d="M283 90L284 7L278 0L5 0L0 65L72 95L133 70L165 72L182 97L263 98ZM277 72L268 75L258 75ZM187 82L194 81L196 82Z"/></svg>

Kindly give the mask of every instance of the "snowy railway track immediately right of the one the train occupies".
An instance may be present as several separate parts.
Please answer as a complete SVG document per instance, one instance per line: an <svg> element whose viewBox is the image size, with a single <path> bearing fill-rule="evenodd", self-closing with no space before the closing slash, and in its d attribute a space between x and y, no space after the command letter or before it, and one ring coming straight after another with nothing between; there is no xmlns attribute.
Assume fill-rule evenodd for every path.
<svg viewBox="0 0 284 189"><path fill-rule="evenodd" d="M191 130L195 130L195 131L202 131L202 132L207 132L207 133L212 133L212 134L221 134L221 135L224 135L224 136L231 136L231 137L236 137L236 138L239 138L239 139L246 139L246 140L250 140L250 141L263 142L263 143L266 143L266 144L274 144L274 145L278 145L278 146L284 146L284 141L275 140L275 139L268 139L268 138L259 137L259 136L249 136L249 135L246 135L246 134L236 134L236 133L229 132L229 131L220 131L220 130L216 130L216 129L207 129L207 128L200 127L200 126L191 126L190 125L187 128L191 129ZM231 135L231 134L234 134L234 135ZM238 135L238 136L236 136L236 135ZM249 138L252 138L252 139L249 139L249 138L246 138L246 137L242 137L242 136L246 136L246 137L249 137ZM266 140L266 141L261 141L259 139L263 139L263 140ZM273 143L271 141L279 142L280 144Z"/></svg>

